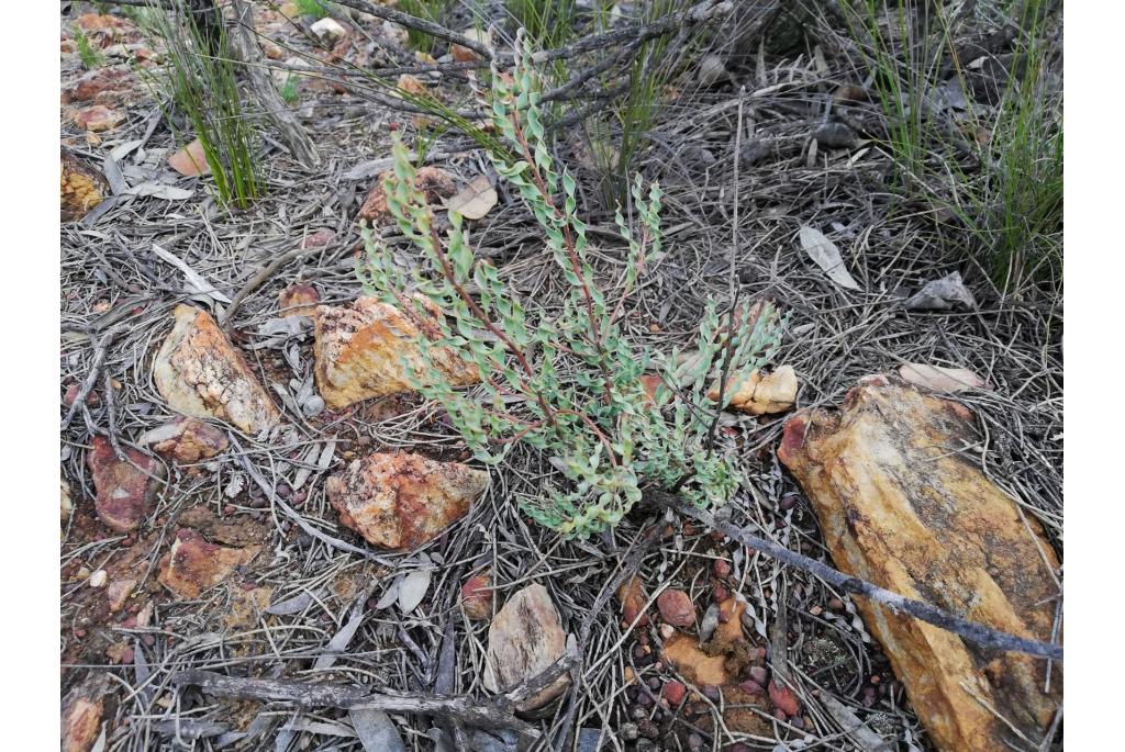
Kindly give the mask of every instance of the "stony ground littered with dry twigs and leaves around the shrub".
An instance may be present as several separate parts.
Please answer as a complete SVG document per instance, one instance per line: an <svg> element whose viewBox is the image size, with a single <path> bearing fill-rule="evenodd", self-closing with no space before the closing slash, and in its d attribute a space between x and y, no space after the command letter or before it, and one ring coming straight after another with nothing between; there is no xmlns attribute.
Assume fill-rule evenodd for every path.
<svg viewBox="0 0 1125 752"><path fill-rule="evenodd" d="M292 110L320 165L266 130L263 198L223 210L146 84L159 46L70 4L64 749L1052 749L1058 663L889 616L665 509L603 538L532 523L519 502L554 470L525 450L472 466L406 388L411 323L354 274L358 220L385 211L389 134L422 124L302 79ZM262 7L258 21L266 61L407 54L371 17L313 31ZM667 191L672 252L629 336L682 346L732 284L790 315L778 362L722 418L748 483L721 519L1056 640L1061 311L1000 295L933 211L886 190L878 148L828 137L811 105L862 84L853 71L824 51L756 49L684 87L638 165ZM868 109L842 111L854 125ZM579 147L559 137L610 274L621 250ZM431 201L480 201L478 254L552 305L564 288L537 225L479 150L444 133L428 161ZM847 279L810 254L824 243ZM474 382L456 354L446 365ZM890 375L861 382L873 373Z"/></svg>

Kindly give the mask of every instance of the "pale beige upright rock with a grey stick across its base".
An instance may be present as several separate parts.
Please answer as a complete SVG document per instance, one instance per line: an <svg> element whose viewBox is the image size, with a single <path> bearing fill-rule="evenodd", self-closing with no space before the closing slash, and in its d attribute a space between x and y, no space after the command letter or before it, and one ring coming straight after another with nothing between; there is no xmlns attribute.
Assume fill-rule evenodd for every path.
<svg viewBox="0 0 1125 752"><path fill-rule="evenodd" d="M512 596L488 626L485 689L503 692L546 671L566 652L566 632L547 588L529 585ZM564 673L549 687L516 705L530 712L547 705L570 685Z"/></svg>

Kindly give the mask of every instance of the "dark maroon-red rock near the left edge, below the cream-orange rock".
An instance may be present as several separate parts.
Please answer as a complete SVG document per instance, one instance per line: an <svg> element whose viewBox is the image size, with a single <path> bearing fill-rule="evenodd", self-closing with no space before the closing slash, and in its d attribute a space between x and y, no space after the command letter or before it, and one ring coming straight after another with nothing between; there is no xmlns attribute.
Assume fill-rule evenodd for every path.
<svg viewBox="0 0 1125 752"><path fill-rule="evenodd" d="M117 459L108 438L94 436L87 465L93 475L98 517L110 529L128 533L141 526L150 502L163 483L164 468L155 457L128 446L122 449L129 462Z"/></svg>

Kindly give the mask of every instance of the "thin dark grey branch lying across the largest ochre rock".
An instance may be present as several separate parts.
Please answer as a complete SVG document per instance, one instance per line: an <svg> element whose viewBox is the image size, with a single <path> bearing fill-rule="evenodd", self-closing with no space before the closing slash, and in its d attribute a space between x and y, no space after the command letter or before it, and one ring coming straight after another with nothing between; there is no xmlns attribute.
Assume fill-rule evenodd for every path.
<svg viewBox="0 0 1125 752"><path fill-rule="evenodd" d="M953 632L954 634L957 634L965 640L970 640L978 645L1017 653L1026 653L1028 655L1046 658L1054 661L1062 660L1062 645L1038 642L1036 640L1026 640L1014 634L1008 634L1007 632L993 629L992 627L983 624L969 622L927 602L914 600L912 598L906 598L897 592L884 590L878 585L873 585L866 580L849 577L844 572L835 570L831 567L817 561L816 559L810 559L804 554L790 551L782 545L760 538L736 525L731 525L730 523L716 519L714 515L703 511L702 509L696 509L683 499L672 496L670 493L650 490L646 492L646 496L662 507L674 509L682 515L698 519L712 529L719 531L723 535L735 538L736 541L760 551L762 553L768 554L774 559L789 564L790 567L795 567L796 569L809 572L829 585L834 585L856 596L871 598L896 613L901 611L903 614L909 614L910 616L921 619L927 624L933 624L934 626L946 629L947 632Z"/></svg>

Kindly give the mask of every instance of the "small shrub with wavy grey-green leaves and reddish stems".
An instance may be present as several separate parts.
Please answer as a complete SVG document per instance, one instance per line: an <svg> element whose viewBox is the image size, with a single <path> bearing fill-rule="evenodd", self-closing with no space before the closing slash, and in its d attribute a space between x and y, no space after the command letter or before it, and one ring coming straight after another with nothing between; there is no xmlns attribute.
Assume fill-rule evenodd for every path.
<svg viewBox="0 0 1125 752"><path fill-rule="evenodd" d="M708 390L717 371L739 382L773 356L780 342L775 311L763 306L756 314L746 306L723 320L710 303L696 353L686 360L630 342L620 326L626 302L664 253L659 185L646 194L639 178L633 183L639 227L618 210L627 264L613 286L600 287L587 257L586 225L576 215L574 178L547 148L542 87L522 34L511 83L500 71L492 79L493 124L516 158L489 152L489 160L538 220L568 295L557 315L518 298L490 263L474 259L457 212L442 237L414 188L406 147L396 141L394 173L384 182L387 206L423 263L403 269L385 242L364 229L367 262L359 272L368 293L397 305L421 332L428 366L412 386L442 405L482 462L500 462L515 442L543 452L567 487L549 489L524 509L560 533L586 535L615 525L640 499L642 482L675 489L701 507L726 502L739 477L732 457L710 438L729 390L722 404ZM479 369L478 393L454 389L435 366L434 354L446 347ZM660 375L652 395L641 382L649 370Z"/></svg>

